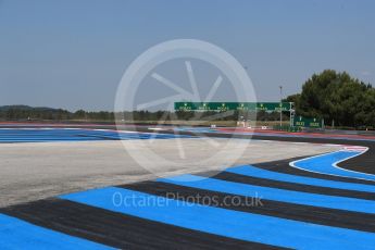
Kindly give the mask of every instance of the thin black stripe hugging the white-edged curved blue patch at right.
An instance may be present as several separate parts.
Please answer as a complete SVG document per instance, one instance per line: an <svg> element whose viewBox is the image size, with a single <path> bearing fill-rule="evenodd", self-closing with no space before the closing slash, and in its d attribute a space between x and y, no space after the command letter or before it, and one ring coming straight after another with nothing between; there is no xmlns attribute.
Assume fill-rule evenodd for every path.
<svg viewBox="0 0 375 250"><path fill-rule="evenodd" d="M275 171L275 172L290 174L290 175L299 175L299 176L305 176L305 177L312 177L312 178L329 179L329 180L337 180L337 182L343 182L343 183L366 184L366 185L375 186L375 182L372 182L372 180L318 174L318 173L299 170L289 165L290 162L301 160L304 158L307 157L292 158L292 159L272 161L272 162L263 162L263 163L257 163L257 164L251 164L251 165L263 168L263 170Z"/></svg>

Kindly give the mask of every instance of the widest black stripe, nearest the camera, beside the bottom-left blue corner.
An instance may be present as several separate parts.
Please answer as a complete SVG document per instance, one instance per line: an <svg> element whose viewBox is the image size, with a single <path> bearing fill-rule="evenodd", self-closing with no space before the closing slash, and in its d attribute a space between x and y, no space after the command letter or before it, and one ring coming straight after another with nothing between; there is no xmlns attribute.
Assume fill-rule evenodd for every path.
<svg viewBox="0 0 375 250"><path fill-rule="evenodd" d="M61 199L39 200L1 209L0 212L38 226L121 249L279 249Z"/></svg>

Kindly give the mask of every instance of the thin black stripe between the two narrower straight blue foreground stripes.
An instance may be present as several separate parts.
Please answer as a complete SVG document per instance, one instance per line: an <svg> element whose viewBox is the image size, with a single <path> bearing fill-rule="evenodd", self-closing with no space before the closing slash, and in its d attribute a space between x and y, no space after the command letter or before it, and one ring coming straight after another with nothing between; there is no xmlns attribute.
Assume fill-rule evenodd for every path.
<svg viewBox="0 0 375 250"><path fill-rule="evenodd" d="M240 174L235 174L235 173L229 173L229 172L222 172L216 175L212 175L211 173L204 173L204 174L199 174L199 175L210 176L211 178L216 178L216 179L222 179L222 180L227 180L227 182L233 182L233 183L250 184L250 185L255 185L255 186L280 188L280 189L288 189L288 190L293 190L293 191L321 193L321 195L327 195L327 196L341 196L341 197L350 197L350 198L358 198L358 199L365 199L365 200L375 200L375 193L373 192L363 192L363 191L343 190L343 189L337 189L337 188L317 187L317 186L303 185L303 184L293 184L293 183L274 180L274 179L246 176L246 175L240 175Z"/></svg>

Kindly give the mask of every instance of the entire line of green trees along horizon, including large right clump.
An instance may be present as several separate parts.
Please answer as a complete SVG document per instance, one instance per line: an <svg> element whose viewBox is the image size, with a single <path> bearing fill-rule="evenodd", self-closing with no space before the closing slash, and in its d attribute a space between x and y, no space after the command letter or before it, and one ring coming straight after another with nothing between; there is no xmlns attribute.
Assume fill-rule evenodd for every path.
<svg viewBox="0 0 375 250"><path fill-rule="evenodd" d="M326 125L335 127L375 128L375 88L352 78L346 72L324 71L314 74L302 86L302 92L289 96L284 101L296 103L297 115L304 117L323 117ZM217 112L168 112L168 111L134 111L125 112L126 121L155 123L161 120L167 123L188 123L203 121L210 124L209 117L217 115ZM217 116L215 123L229 123L238 120L253 120L251 113L235 111L224 117ZM62 109L32 108L27 105L0 107L0 121L89 121L89 122L114 122L114 113L100 111L87 112L78 110L70 112ZM270 125L279 120L278 112L257 113L258 124ZM288 120L284 114L284 121ZM184 122L183 122L184 121ZM204 122L205 121L205 122Z"/></svg>

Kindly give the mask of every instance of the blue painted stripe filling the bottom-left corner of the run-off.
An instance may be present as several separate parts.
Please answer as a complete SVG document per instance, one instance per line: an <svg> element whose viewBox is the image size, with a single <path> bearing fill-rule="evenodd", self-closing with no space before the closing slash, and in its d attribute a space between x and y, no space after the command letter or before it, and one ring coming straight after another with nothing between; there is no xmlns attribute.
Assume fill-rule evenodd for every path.
<svg viewBox="0 0 375 250"><path fill-rule="evenodd" d="M0 214L1 249L111 249Z"/></svg>

